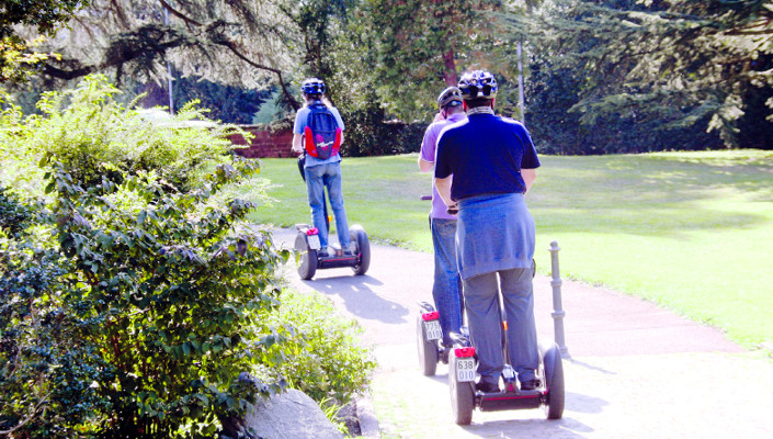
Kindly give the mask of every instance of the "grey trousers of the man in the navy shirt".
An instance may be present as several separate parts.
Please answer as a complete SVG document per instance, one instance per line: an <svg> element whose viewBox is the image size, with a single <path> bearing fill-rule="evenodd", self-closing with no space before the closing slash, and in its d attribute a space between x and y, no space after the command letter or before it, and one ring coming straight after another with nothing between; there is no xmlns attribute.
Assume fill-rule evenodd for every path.
<svg viewBox="0 0 773 439"><path fill-rule="evenodd" d="M508 356L519 381L533 380L539 365L537 329L534 325L532 269L514 268L479 274L464 281L469 335L478 353L480 381L498 383L505 358L502 354L502 315L499 285L502 288L508 320Z"/></svg>

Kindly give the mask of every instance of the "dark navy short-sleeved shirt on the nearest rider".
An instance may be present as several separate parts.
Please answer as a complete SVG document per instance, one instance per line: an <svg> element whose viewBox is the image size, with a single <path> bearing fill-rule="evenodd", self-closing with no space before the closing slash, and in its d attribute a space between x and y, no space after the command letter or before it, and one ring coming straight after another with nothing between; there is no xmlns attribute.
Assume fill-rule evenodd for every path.
<svg viewBox="0 0 773 439"><path fill-rule="evenodd" d="M526 127L493 114L473 114L437 139L435 177L451 175L454 201L496 193L525 193L521 169L539 167Z"/></svg>

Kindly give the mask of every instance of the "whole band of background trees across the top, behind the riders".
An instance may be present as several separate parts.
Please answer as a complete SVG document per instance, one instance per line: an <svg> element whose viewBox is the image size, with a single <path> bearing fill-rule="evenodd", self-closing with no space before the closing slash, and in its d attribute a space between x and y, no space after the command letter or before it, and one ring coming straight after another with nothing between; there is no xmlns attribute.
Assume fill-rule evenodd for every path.
<svg viewBox="0 0 773 439"><path fill-rule="evenodd" d="M320 77L346 120L350 155L411 150L395 145L413 136L394 122L429 122L437 93L470 68L497 75L498 111L523 119L521 63L525 122L538 142L552 139L544 150L714 148L717 136L727 147L770 148L772 19L771 0L92 0L38 60L64 55L45 60L49 79L99 70L160 83L170 61L183 78L276 87L274 126L302 104L293 86ZM191 94L236 95L197 86ZM207 106L224 108L228 119L214 116L228 121L255 112Z"/></svg>

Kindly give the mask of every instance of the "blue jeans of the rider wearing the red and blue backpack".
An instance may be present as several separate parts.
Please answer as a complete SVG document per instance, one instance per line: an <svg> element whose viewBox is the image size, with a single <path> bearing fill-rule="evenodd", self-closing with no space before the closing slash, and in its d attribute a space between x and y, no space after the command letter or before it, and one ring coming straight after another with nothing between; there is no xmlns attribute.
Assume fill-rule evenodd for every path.
<svg viewBox="0 0 773 439"><path fill-rule="evenodd" d="M328 247L328 226L325 222L325 188L328 188L330 205L336 215L336 230L341 248L351 245L346 212L343 210L343 191L341 190L341 162L317 165L304 169L306 173L306 189L308 191L309 206L314 226L319 229L319 243L322 248Z"/></svg>

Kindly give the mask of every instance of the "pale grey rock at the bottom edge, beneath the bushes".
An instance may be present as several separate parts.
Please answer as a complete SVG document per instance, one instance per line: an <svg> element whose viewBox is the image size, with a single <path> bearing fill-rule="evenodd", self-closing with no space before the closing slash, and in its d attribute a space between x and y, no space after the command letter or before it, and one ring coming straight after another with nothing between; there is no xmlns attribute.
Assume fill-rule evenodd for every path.
<svg viewBox="0 0 773 439"><path fill-rule="evenodd" d="M243 427L264 439L343 439L319 405L296 390L259 402L245 415Z"/></svg>

